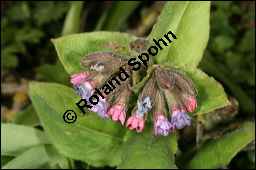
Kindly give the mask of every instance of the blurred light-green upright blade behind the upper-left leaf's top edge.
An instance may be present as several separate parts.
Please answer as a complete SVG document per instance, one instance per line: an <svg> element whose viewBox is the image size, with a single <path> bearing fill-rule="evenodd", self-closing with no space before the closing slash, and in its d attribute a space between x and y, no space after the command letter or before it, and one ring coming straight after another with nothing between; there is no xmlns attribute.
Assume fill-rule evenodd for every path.
<svg viewBox="0 0 256 170"><path fill-rule="evenodd" d="M72 2L68 14L65 18L62 35L77 33L80 26L80 15L83 9L84 1Z"/></svg>

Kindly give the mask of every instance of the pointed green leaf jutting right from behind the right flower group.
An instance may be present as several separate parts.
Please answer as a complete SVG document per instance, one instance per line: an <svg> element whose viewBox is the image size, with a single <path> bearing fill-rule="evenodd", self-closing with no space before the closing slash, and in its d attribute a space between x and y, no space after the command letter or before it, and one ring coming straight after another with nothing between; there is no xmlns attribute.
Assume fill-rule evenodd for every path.
<svg viewBox="0 0 256 170"><path fill-rule="evenodd" d="M201 70L184 64L165 64L166 68L176 68L190 78L197 90L197 109L192 113L203 114L230 104L220 83ZM169 65L169 66L167 66Z"/></svg>

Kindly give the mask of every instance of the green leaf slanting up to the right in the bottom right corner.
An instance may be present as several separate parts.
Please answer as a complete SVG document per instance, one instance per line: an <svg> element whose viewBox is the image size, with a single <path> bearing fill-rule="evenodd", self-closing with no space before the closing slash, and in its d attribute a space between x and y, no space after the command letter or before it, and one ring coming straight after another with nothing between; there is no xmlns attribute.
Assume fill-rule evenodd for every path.
<svg viewBox="0 0 256 170"><path fill-rule="evenodd" d="M187 168L216 169L228 165L231 159L253 139L255 139L255 123L244 123L237 130L202 147Z"/></svg>

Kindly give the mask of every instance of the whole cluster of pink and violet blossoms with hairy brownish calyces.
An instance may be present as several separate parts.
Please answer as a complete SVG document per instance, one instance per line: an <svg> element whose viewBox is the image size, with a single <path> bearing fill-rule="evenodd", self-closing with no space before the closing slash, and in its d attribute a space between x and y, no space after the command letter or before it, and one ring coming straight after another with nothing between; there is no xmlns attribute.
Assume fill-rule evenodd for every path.
<svg viewBox="0 0 256 170"><path fill-rule="evenodd" d="M114 43L106 45L114 51L125 49ZM136 52L145 50L146 46L147 42L141 39L130 44L131 50ZM131 82L134 77L130 76L132 71L126 66L128 60L129 57L112 52L92 53L84 57L81 62L81 65L86 68L85 71L71 75L71 83L82 99L88 100L95 92L100 93L98 89L104 91L103 95L100 93L101 98L97 105L88 108L90 111L97 113L103 119L119 120L122 125L125 123L132 95L131 86L134 86ZM125 69L121 69L122 66ZM121 81L118 81L116 76ZM184 74L177 70L165 70L154 66L152 77L139 94L137 105L127 119L126 126L142 132L147 115L152 110L154 135L167 136L175 128L182 129L185 125L190 125L191 118L187 112L193 112L197 108L195 95L196 90L192 81ZM94 103L95 100L89 101ZM168 120L166 106L168 106L171 121Z"/></svg>

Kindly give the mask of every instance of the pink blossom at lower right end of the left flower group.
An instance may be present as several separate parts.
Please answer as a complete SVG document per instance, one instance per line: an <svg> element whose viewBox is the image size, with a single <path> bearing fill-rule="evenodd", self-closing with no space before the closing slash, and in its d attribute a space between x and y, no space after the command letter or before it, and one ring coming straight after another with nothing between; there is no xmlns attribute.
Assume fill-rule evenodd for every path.
<svg viewBox="0 0 256 170"><path fill-rule="evenodd" d="M111 107L107 114L109 116L111 116L112 120L117 121L119 120L121 122L121 124L124 124L125 121L125 117L126 117L126 111L124 110L124 108L122 107L121 104L117 104L113 107Z"/></svg>

